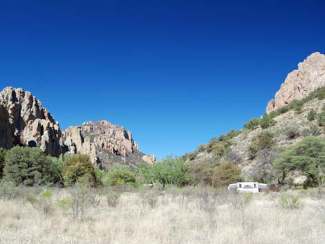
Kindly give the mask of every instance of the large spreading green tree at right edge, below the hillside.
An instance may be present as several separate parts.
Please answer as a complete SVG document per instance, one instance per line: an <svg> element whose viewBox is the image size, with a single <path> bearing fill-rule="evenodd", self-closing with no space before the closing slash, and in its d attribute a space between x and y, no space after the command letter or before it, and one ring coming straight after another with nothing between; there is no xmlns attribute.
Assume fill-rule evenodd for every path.
<svg viewBox="0 0 325 244"><path fill-rule="evenodd" d="M284 185L288 173L301 171L307 177L305 186L323 185L325 173L324 138L306 137L275 160L279 185Z"/></svg>

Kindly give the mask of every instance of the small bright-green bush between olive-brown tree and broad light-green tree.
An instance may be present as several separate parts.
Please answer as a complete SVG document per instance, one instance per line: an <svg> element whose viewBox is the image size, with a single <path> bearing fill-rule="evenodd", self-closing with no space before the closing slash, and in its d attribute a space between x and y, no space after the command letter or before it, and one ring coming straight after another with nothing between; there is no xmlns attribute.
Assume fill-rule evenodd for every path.
<svg viewBox="0 0 325 244"><path fill-rule="evenodd" d="M111 186L115 185L136 185L136 173L127 165L113 165L109 169L106 180Z"/></svg>

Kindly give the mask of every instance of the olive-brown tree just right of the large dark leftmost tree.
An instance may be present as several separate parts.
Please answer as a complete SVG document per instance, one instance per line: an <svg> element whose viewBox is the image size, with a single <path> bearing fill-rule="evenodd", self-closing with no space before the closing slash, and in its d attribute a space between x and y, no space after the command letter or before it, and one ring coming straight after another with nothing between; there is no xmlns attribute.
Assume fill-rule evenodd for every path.
<svg viewBox="0 0 325 244"><path fill-rule="evenodd" d="M62 176L64 185L68 186L75 185L76 182L92 186L98 184L95 169L88 155L77 154L64 158Z"/></svg>

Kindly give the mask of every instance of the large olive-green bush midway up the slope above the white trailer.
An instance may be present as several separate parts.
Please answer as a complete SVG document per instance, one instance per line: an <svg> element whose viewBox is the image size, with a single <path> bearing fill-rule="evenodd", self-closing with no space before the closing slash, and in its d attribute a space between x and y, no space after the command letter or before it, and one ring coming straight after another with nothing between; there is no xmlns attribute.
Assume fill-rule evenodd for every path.
<svg viewBox="0 0 325 244"><path fill-rule="evenodd" d="M258 151L262 149L271 149L275 144L272 135L268 132L262 132L257 135L256 138L250 144L248 148L248 156L250 159L254 159L257 156Z"/></svg>

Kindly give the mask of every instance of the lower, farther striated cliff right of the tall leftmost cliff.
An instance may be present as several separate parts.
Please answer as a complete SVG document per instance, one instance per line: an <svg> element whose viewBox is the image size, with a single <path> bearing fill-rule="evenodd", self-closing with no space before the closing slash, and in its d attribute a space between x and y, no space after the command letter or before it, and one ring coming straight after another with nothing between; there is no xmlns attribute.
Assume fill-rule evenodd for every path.
<svg viewBox="0 0 325 244"><path fill-rule="evenodd" d="M108 169L114 163L137 167L141 162L156 162L154 156L140 152L130 131L106 120L84 122L65 131L64 144L71 153L86 153L93 162Z"/></svg>

